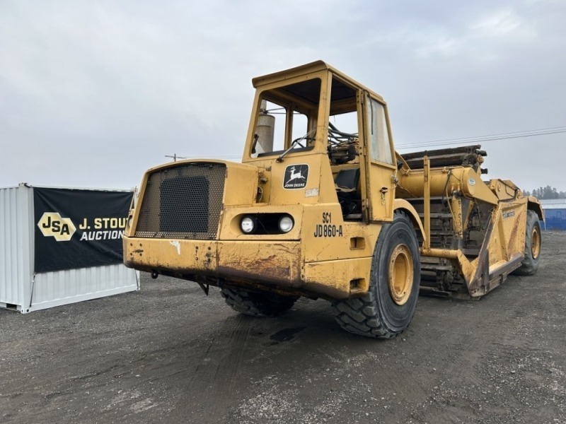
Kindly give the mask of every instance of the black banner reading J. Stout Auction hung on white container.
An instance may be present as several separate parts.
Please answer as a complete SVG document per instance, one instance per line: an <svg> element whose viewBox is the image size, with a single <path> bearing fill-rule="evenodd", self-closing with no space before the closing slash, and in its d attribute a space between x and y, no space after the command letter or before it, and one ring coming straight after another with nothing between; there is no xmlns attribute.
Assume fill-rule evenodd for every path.
<svg viewBox="0 0 566 424"><path fill-rule="evenodd" d="M122 262L133 192L34 187L35 272Z"/></svg>

